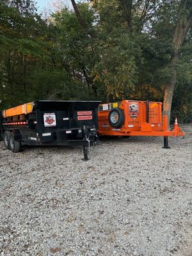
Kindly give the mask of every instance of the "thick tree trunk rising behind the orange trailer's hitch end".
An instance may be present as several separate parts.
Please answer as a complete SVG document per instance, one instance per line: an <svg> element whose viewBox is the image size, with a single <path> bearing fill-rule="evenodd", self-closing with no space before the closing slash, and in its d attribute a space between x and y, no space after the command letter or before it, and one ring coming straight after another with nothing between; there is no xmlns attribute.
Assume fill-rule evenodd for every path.
<svg viewBox="0 0 192 256"><path fill-rule="evenodd" d="M166 84L163 101L163 116L168 116L168 127L170 127L173 92L177 82L177 62L179 60L180 47L184 42L186 33L188 33L189 28L192 26L192 7L190 3L190 0L180 1L179 15L173 35L173 52L170 60L170 72L172 77L170 82ZM188 16L186 17L186 15Z"/></svg>

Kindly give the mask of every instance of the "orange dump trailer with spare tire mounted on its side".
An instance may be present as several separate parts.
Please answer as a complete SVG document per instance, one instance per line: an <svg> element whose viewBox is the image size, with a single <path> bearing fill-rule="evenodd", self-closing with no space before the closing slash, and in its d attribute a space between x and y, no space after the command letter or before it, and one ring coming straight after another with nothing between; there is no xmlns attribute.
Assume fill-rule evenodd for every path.
<svg viewBox="0 0 192 256"><path fill-rule="evenodd" d="M109 136L163 136L164 148L168 136L184 136L175 120L168 129L168 116L162 117L162 103L141 100L122 100L100 104L98 111L99 135Z"/></svg>

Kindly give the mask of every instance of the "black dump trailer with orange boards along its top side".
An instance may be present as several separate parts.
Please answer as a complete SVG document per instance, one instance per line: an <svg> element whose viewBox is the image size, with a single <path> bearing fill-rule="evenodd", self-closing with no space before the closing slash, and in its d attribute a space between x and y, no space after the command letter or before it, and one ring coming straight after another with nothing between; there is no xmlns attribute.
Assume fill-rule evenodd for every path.
<svg viewBox="0 0 192 256"><path fill-rule="evenodd" d="M38 100L1 112L4 145L19 152L20 145L82 145L84 159L97 141L100 101Z"/></svg>

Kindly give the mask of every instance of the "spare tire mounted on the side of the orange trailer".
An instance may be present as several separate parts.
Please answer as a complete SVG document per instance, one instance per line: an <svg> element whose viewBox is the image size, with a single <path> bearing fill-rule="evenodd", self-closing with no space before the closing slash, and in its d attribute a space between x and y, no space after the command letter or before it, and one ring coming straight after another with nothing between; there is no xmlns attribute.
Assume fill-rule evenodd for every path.
<svg viewBox="0 0 192 256"><path fill-rule="evenodd" d="M112 127L121 127L125 122L125 114L121 108L113 108L109 112L109 124Z"/></svg>

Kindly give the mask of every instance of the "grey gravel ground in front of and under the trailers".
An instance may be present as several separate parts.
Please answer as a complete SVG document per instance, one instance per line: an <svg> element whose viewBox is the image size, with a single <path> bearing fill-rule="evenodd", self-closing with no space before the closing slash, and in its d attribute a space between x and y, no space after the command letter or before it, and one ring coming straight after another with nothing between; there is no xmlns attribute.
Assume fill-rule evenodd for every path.
<svg viewBox="0 0 192 256"><path fill-rule="evenodd" d="M192 124L186 138L81 148L0 143L1 255L192 255Z"/></svg>

